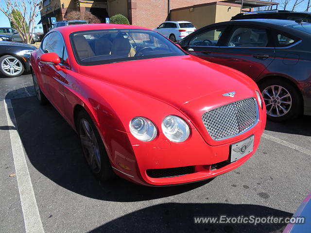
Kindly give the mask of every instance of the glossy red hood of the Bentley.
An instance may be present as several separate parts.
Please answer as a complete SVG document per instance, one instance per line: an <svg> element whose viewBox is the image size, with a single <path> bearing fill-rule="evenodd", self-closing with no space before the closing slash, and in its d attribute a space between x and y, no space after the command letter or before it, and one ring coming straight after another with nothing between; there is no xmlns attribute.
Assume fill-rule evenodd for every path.
<svg viewBox="0 0 311 233"><path fill-rule="evenodd" d="M249 94L248 86L254 83L239 71L191 55L80 66L79 72L132 89L177 109L191 100L212 93L239 90L240 93Z"/></svg>

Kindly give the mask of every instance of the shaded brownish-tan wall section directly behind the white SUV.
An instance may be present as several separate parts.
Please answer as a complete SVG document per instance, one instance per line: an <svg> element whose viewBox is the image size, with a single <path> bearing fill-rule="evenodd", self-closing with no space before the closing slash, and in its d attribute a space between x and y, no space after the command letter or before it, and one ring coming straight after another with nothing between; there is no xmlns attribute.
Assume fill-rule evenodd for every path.
<svg viewBox="0 0 311 233"><path fill-rule="evenodd" d="M171 20L190 21L197 29L215 23L216 4L171 11Z"/></svg>

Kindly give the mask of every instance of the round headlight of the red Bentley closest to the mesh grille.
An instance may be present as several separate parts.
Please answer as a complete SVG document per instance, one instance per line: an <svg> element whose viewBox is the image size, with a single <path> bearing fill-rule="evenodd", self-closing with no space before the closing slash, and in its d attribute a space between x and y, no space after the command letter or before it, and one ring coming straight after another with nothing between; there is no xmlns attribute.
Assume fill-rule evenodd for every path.
<svg viewBox="0 0 311 233"><path fill-rule="evenodd" d="M190 134L186 121L178 116L166 116L162 121L162 131L172 142L183 142Z"/></svg>

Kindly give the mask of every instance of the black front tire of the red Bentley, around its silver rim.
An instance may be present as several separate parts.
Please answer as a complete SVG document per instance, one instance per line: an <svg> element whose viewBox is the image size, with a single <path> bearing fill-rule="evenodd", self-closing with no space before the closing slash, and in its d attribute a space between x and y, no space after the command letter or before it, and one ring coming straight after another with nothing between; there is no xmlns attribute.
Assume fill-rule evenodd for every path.
<svg viewBox="0 0 311 233"><path fill-rule="evenodd" d="M87 136L87 134L85 133L85 128L83 127L83 124L85 124L85 121L88 123L88 125L91 127L92 132L94 133L95 137L92 137L92 138L88 137L88 139L90 139L91 141L94 141L94 139L96 139L96 142L92 143L92 145L93 145L93 148L94 147L97 148L97 146L98 146L97 151L99 151L100 161L98 161L98 159L97 159L98 157L96 157L96 155L93 155L92 157L95 158L95 159L93 159L94 162L90 162L89 150L93 150L93 148L90 149L89 145L88 145L88 147L84 146L85 143L82 142L85 140L85 138ZM93 120L87 114L86 111L80 111L79 112L77 119L76 119L76 128L77 128L77 133L80 137L80 142L81 142L81 147L82 147L84 157L86 158L86 162L88 164L88 167L90 168L90 170L92 171L94 176L97 179L100 179L102 181L108 181L108 180L111 180L112 178L114 178L115 173L112 170L112 166L110 164L106 149L104 147L103 140L102 140L100 134L98 133L97 128L93 123ZM98 164L100 164L100 166L98 166Z"/></svg>

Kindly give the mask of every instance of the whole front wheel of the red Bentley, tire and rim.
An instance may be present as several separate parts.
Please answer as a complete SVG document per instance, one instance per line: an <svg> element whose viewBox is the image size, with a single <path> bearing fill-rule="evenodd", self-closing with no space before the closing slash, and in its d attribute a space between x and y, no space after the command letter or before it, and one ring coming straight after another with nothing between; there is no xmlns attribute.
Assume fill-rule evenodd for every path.
<svg viewBox="0 0 311 233"><path fill-rule="evenodd" d="M91 117L85 111L81 111L76 124L83 154L89 168L98 179L103 181L110 180L114 177L114 172L102 138Z"/></svg>

